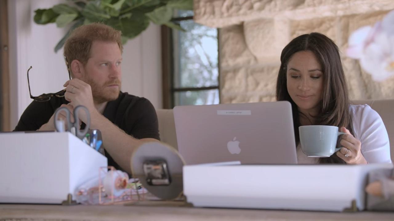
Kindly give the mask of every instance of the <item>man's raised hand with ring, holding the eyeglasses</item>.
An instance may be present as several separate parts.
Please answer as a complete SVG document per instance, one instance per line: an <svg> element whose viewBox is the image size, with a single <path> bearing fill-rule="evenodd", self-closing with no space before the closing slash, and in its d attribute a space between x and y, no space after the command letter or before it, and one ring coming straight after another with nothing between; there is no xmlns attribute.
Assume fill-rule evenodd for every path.
<svg viewBox="0 0 394 221"><path fill-rule="evenodd" d="M66 92L64 98L70 101L69 105L76 108L78 105L83 105L89 110L90 115L96 114L97 110L93 102L92 89L89 84L80 79L71 79L64 85ZM87 122L87 116L84 111L78 112L79 118L83 122Z"/></svg>

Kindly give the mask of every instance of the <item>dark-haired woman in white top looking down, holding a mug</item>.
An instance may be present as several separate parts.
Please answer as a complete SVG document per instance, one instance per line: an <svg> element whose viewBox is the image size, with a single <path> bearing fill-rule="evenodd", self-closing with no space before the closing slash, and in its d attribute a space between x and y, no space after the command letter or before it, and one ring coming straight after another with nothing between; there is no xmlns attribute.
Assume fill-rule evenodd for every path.
<svg viewBox="0 0 394 221"><path fill-rule="evenodd" d="M299 164L391 162L386 128L368 105L351 105L336 44L320 33L293 39L281 54L276 98L290 101ZM298 127L332 125L346 133L340 151L309 158L299 147Z"/></svg>

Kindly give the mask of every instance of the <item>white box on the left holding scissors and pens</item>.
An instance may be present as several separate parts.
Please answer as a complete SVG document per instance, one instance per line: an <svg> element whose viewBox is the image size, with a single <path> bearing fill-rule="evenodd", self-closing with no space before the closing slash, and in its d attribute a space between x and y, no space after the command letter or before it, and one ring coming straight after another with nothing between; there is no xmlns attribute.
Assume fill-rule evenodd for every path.
<svg viewBox="0 0 394 221"><path fill-rule="evenodd" d="M68 132L0 133L0 203L59 204L102 166L107 158Z"/></svg>

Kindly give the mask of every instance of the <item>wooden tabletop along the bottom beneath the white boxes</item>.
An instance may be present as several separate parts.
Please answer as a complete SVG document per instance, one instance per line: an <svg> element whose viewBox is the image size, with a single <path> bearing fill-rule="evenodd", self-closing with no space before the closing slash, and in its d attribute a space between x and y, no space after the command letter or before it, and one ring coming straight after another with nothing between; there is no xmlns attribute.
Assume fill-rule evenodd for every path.
<svg viewBox="0 0 394 221"><path fill-rule="evenodd" d="M186 208L165 206L61 206L32 204L0 204L0 221L211 221L211 220L269 220L269 221L378 221L394 220L387 212L306 212L286 210L245 210L219 208Z"/></svg>

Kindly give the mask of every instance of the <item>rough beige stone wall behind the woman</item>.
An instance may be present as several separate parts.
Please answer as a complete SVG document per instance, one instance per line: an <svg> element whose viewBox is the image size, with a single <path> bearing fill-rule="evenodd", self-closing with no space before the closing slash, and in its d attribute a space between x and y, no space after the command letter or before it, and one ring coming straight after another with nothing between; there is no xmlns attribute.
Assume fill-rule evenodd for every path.
<svg viewBox="0 0 394 221"><path fill-rule="evenodd" d="M282 49L310 32L324 33L340 48L351 99L393 99L394 77L372 81L345 55L354 30L392 9L394 0L194 0L195 21L220 28L221 103L275 100Z"/></svg>

